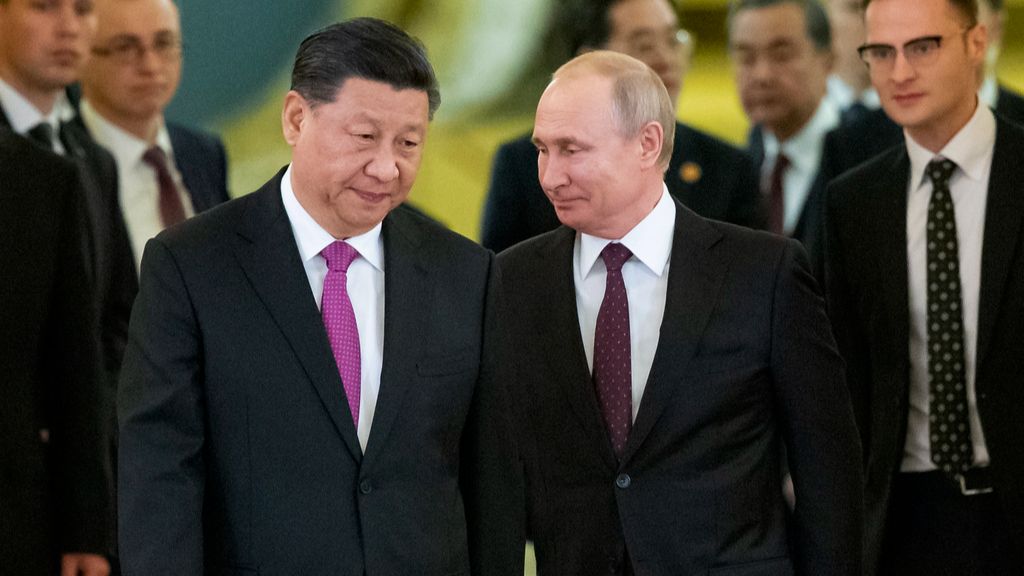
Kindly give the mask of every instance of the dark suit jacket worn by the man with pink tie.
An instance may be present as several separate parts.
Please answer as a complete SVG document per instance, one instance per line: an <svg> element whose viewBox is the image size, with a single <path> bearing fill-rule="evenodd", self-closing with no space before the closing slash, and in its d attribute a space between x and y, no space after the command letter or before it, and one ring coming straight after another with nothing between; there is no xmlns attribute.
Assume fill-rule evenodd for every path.
<svg viewBox="0 0 1024 576"><path fill-rule="evenodd" d="M522 574L493 254L385 218L364 454L283 173L146 247L118 406L125 574Z"/></svg>

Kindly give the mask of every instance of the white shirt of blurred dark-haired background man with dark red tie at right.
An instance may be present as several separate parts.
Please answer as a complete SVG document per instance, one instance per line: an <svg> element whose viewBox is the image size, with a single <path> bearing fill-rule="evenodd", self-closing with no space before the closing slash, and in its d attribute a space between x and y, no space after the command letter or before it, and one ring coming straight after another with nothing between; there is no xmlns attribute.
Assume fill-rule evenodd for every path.
<svg viewBox="0 0 1024 576"><path fill-rule="evenodd" d="M764 130L765 159L761 164L761 190L768 190L775 160L779 148L790 159L790 168L782 178L784 216L782 231L792 235L800 222L804 212L804 204L811 192L811 184L818 175L821 164L821 147L825 134L839 126L840 114L836 105L827 97L821 98L814 116L804 127L785 141L779 143L778 138L768 130Z"/></svg>

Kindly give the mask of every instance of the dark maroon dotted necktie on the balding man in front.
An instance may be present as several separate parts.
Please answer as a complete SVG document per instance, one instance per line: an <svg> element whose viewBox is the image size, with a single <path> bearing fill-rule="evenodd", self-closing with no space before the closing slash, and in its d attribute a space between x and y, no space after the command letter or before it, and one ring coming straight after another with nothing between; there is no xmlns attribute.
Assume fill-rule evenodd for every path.
<svg viewBox="0 0 1024 576"><path fill-rule="evenodd" d="M630 366L630 307L623 264L633 253L611 243L601 251L608 273L594 331L594 388L616 456L626 449L633 423L633 370Z"/></svg>

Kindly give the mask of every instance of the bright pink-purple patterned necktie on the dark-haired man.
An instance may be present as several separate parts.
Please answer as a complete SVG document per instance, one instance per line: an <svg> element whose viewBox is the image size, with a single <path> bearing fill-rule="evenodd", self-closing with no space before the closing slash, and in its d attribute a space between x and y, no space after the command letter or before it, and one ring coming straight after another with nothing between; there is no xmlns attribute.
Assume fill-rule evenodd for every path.
<svg viewBox="0 0 1024 576"><path fill-rule="evenodd" d="M348 299L348 264L359 257L359 253L341 240L335 241L321 252L327 260L327 277L324 279L324 297L321 313L327 337L331 341L334 361L338 364L341 383L348 397L348 410L352 422L359 426L359 329L355 325L352 301Z"/></svg>

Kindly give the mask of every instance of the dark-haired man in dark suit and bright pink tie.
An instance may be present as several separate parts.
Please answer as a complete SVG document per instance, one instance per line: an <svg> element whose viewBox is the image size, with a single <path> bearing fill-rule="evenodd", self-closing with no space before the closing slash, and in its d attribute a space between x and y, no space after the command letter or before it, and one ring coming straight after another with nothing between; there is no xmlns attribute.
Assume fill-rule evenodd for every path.
<svg viewBox="0 0 1024 576"><path fill-rule="evenodd" d="M299 47L292 163L142 258L119 396L131 574L522 574L494 255L408 210L439 104L358 18Z"/></svg>

